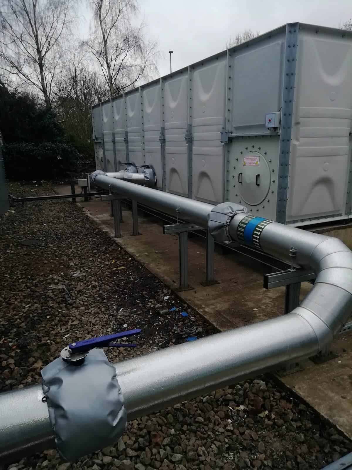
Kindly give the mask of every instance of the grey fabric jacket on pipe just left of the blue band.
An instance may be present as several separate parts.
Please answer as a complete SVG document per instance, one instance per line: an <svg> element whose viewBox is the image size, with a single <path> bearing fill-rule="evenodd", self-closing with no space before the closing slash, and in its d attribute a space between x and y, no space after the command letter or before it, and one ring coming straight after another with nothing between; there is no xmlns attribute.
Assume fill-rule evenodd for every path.
<svg viewBox="0 0 352 470"><path fill-rule="evenodd" d="M239 213L247 213L245 206L231 203L221 203L213 207L208 214L208 229L215 242L224 245L238 246L229 234L229 224L232 218Z"/></svg>

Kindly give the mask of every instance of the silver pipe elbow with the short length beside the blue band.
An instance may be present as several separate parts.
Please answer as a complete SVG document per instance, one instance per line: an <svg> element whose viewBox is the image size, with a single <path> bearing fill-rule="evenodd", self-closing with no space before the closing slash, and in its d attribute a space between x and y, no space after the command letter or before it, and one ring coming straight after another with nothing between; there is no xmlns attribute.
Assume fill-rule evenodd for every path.
<svg viewBox="0 0 352 470"><path fill-rule="evenodd" d="M236 215L229 232L237 240L237 227L245 214ZM343 328L352 310L352 252L337 238L295 227L270 223L260 235L261 249L288 259L291 247L297 249L295 262L317 274L314 287L292 313L306 318L317 335L320 351Z"/></svg>

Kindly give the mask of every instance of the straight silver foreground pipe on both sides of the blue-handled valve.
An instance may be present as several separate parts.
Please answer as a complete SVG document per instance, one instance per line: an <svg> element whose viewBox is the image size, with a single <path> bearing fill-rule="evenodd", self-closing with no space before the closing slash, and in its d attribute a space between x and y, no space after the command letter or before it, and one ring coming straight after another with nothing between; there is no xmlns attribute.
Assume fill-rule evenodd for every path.
<svg viewBox="0 0 352 470"><path fill-rule="evenodd" d="M131 420L316 352L314 330L289 314L123 360L115 368ZM0 457L23 454L29 441L36 443L32 453L38 443L54 446L41 397L39 385L0 394Z"/></svg>

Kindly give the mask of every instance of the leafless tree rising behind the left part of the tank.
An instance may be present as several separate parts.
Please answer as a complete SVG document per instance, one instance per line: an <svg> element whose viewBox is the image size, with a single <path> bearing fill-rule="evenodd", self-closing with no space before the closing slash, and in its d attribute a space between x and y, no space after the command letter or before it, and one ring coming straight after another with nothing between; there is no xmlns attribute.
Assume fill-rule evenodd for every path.
<svg viewBox="0 0 352 470"><path fill-rule="evenodd" d="M136 86L157 73L157 43L145 38L145 24L134 25L135 0L91 0L94 28L85 42L95 57L110 95Z"/></svg>

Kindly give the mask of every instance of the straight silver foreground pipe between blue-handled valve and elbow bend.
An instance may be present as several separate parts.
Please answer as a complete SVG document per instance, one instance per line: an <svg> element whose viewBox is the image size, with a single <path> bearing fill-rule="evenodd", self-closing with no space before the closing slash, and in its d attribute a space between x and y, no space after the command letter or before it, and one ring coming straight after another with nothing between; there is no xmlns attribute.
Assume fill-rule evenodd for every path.
<svg viewBox="0 0 352 470"><path fill-rule="evenodd" d="M131 420L318 350L313 328L291 313L137 356L115 367Z"/></svg>

